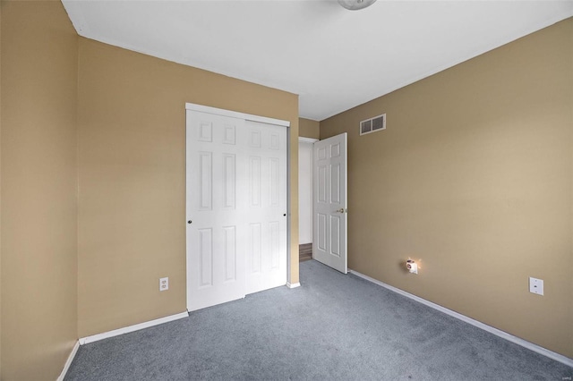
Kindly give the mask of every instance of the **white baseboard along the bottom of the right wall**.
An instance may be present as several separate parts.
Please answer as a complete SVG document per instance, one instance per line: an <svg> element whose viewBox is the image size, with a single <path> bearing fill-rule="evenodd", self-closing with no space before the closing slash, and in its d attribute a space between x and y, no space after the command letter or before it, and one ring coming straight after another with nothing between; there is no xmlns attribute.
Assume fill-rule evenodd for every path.
<svg viewBox="0 0 573 381"><path fill-rule="evenodd" d="M472 326L476 326L476 327L481 328L484 331L487 331L491 334L495 334L496 336L499 336L502 339L508 340L511 343L516 343L517 345L521 345L522 347L527 348L530 351L535 351L539 354L542 354L545 357L548 357L552 360L559 361L560 363L563 363L563 364L573 368L573 359L569 359L569 357L563 356L560 353L545 349L542 346L539 346L535 343L528 342L524 339L521 339L517 336L514 336L513 334L508 334L507 332L501 331L500 329L494 328L493 326L488 326L487 324L484 324L484 323L477 321L473 318L468 318L468 317L466 317L466 315L462 315L459 312L453 311L451 309L446 309L445 307L442 307L439 304L433 303L432 301L426 301L425 299L420 298L419 296L415 296L414 294L412 294L410 292L405 292L404 290L400 290L399 288L396 288L396 287L391 286L389 284L385 284L385 283L383 283L377 279L371 278L368 275L363 275L363 274L361 274L355 270L348 269L348 272L351 274L354 274L358 277L361 277L361 278L363 278L369 282L372 282L373 284L378 284L381 287L388 289L389 291L399 293L400 295L406 296L406 298L410 298L414 301L418 301L418 302L422 303L423 305L431 307L432 309L437 309L440 312L443 312L446 315L449 315L450 317L458 318L459 320L462 320L468 324L471 324Z"/></svg>

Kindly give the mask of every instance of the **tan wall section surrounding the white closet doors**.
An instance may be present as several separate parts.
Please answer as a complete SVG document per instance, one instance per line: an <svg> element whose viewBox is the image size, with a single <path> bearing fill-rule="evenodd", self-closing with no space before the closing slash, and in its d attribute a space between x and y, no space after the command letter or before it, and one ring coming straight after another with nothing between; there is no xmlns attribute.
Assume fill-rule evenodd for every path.
<svg viewBox="0 0 573 381"><path fill-rule="evenodd" d="M80 336L186 309L185 102L291 122L298 282L297 96L85 38L79 79Z"/></svg>

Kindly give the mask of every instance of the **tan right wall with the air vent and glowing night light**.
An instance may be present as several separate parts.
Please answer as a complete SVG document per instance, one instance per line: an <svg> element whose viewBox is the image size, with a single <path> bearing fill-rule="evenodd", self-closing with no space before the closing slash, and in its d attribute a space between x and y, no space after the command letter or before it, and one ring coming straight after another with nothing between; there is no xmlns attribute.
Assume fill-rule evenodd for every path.
<svg viewBox="0 0 573 381"><path fill-rule="evenodd" d="M321 122L348 132L350 268L569 358L572 37L561 21Z"/></svg>

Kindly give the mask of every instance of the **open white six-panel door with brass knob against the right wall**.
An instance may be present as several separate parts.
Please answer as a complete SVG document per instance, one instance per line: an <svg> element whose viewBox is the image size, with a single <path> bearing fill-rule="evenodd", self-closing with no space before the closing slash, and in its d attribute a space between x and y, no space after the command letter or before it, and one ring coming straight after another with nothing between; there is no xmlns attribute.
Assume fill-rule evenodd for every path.
<svg viewBox="0 0 573 381"><path fill-rule="evenodd" d="M346 132L314 143L312 257L341 273L346 256Z"/></svg>

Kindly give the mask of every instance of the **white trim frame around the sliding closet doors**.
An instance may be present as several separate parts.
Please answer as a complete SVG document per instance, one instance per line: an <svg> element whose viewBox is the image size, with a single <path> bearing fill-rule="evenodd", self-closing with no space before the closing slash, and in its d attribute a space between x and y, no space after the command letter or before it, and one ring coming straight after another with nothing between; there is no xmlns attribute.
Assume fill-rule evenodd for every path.
<svg viewBox="0 0 573 381"><path fill-rule="evenodd" d="M225 110L222 108L217 108L217 107L210 107L210 106L202 106L202 105L197 105L197 104L192 104L192 103L185 103L185 111L198 111L201 113L207 113L207 114L217 114L217 115L224 115L224 116L229 116L229 117L233 117L233 118L239 118L239 119L244 119L245 121L252 121L252 122L259 122L259 123L267 123L267 124L275 124L278 126L283 126L286 127L286 285L289 285L288 283L288 279L290 279L290 273L291 273L291 255L290 255L290 251L291 251L291 182L290 182L290 174L291 174L291 165L290 165L290 160L291 160L291 144L290 144L290 134L291 134L291 129L290 129L290 122L288 121L283 121L280 119L274 119L274 118L269 118L266 116L260 116L260 115L253 115L253 114L244 114L244 113L239 113L236 111L231 111L231 110ZM185 129L186 131L186 129ZM186 138L185 138L186 141ZM186 149L186 148L185 148ZM187 173L187 161L185 159L185 176ZM186 194L187 194L187 190L186 190L186 185L187 182L185 182L185 219L184 219L184 224L185 224L185 229L187 228L187 212L186 212ZM187 234L185 233L185 241L187 240ZM185 262L187 262L187 260L189 259L189 254L187 253L187 245L185 244ZM187 268L187 266L185 265L185 268ZM190 279L187 277L187 271L185 271L185 293L187 292L187 289L189 287L189 282ZM187 296L185 297L185 301L187 301ZM189 306L187 306L189 307Z"/></svg>

